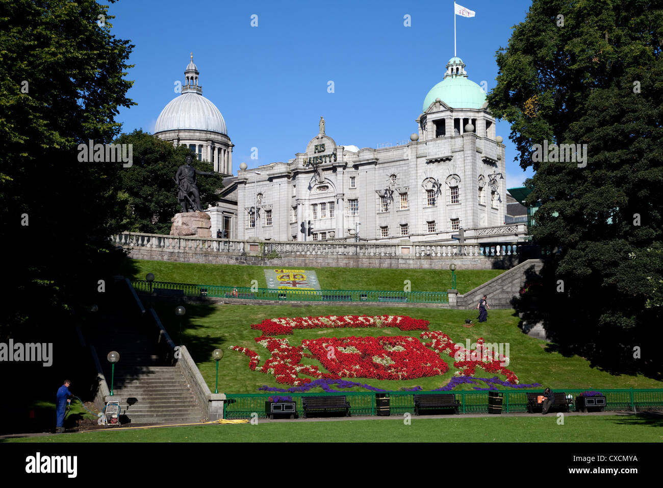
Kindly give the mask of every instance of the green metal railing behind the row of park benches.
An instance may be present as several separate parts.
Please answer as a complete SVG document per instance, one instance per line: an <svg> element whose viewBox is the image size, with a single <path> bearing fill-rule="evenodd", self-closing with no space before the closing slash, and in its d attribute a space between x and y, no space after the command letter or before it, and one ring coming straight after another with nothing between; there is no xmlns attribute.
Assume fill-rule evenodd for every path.
<svg viewBox="0 0 663 488"><path fill-rule="evenodd" d="M554 392L564 392L573 396L574 403L570 406L576 412L575 398L587 390L563 390L556 388ZM503 394L502 411L504 413L526 413L527 393L540 393L538 390L499 390ZM663 388L660 389L611 389L600 390L606 398L605 412L642 412L663 411ZM488 414L488 391L455 391L455 392L385 392L389 398L389 412L392 416L414 414L414 395L453 393L459 400L459 414ZM350 403L351 416L373 416L376 412L374 392L340 392L340 393L271 393L271 394L230 394L227 393L223 402L223 418L251 418L255 412L258 418L266 418L265 402L269 397L290 396L296 402L298 416L304 415L302 396L345 396Z"/></svg>

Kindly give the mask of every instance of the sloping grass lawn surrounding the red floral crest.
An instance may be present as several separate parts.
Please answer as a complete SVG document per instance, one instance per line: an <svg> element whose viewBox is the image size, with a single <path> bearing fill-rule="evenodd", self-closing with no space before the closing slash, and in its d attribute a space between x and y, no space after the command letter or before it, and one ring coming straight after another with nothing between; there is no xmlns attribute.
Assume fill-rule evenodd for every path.
<svg viewBox="0 0 663 488"><path fill-rule="evenodd" d="M158 315L164 327L168 329L175 343L178 340L178 321L173 313L174 305L164 303L156 304ZM593 368L589 361L578 357L564 357L550 345L522 333L518 329L518 317L513 310L491 310L487 323L476 324L471 329L462 327L466 318L474 318L477 312L473 310L450 310L438 308L409 308L409 307L342 307L320 305L209 305L187 304L186 317L183 323L182 342L192 354L194 361L200 368L203 378L210 389L214 390L215 362L211 359L213 349L223 349L225 355L219 363L219 392L227 393L259 393L258 388L267 384L279 388L288 388L288 385L278 384L274 377L249 369L249 358L236 351L229 351L231 345L248 347L261 355L261 363L267 359L269 352L258 345L255 337L260 331L250 329L253 323L274 317L306 317L318 315L347 315L348 313L365 315L410 315L417 319L430 321L432 331L444 331L456 343L465 344L466 339L475 342L483 337L489 343L509 343L509 358L511 363L507 366L514 371L521 384L538 382L550 386L553 390L558 388L662 388L659 382L644 376L629 376L626 374L612 376L598 368ZM355 336L389 336L410 335L419 337L420 331L400 331L396 328L386 329L306 329L295 330L293 335L287 337L291 345L299 345L302 339L316 337L349 337ZM121 353L121 351L120 351ZM415 380L371 380L367 378L351 378L354 381L371 384L385 390L398 390L402 387L422 386L430 390L444 386L452 378L452 358L444 356L450 365L450 370L443 376L418 378ZM304 359L302 363L315 364L322 368L316 359ZM324 371L324 368L322 368ZM475 376L489 378L493 374L486 373L477 368ZM505 379L502 377L501 379ZM471 390L472 386L464 384L456 389ZM357 391L365 391L354 388ZM322 391L321 389L311 390ZM352 390L349 390L352 391Z"/></svg>

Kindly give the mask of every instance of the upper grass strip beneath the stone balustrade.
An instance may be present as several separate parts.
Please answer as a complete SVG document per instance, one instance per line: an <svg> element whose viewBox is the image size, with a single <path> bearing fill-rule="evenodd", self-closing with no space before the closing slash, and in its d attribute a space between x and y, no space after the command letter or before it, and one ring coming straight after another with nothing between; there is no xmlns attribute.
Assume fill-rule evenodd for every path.
<svg viewBox="0 0 663 488"><path fill-rule="evenodd" d="M267 288L265 272L274 266L248 266L237 264L196 264L166 261L129 260L130 268L125 276L145 280L145 275L154 273L158 282L192 283L196 285L251 286ZM277 267L278 268L278 267ZM452 275L445 270L388 270L364 268L306 268L314 270L322 289L367 289L379 291L402 291L405 280L410 280L412 291L447 291L452 284ZM499 276L505 270L457 270L456 282L459 293L465 293Z"/></svg>

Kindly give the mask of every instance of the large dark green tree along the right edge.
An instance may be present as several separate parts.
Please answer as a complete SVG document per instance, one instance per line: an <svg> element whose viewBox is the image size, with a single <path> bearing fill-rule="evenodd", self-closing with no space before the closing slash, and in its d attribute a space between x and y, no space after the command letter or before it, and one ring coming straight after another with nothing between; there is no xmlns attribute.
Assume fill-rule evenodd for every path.
<svg viewBox="0 0 663 488"><path fill-rule="evenodd" d="M663 277L662 44L661 1L534 0L497 52L488 96L511 123L516 159L536 172L526 182L528 204L542 203L534 240L560 250L526 317L603 366L654 374L661 307L646 305L660 303ZM544 141L586 144L586 165L539 161Z"/></svg>

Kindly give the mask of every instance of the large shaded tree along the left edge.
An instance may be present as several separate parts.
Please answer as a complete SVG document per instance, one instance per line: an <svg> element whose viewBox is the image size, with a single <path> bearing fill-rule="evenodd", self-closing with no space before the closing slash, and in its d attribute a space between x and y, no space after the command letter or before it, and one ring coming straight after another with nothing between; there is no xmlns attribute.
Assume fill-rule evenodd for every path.
<svg viewBox="0 0 663 488"><path fill-rule="evenodd" d="M79 144L117 137L118 108L133 105L123 78L133 46L112 35L107 8L0 3L0 238L11 256L0 324L52 324L94 303L123 258L108 236L126 220L127 169L78 160Z"/></svg>

